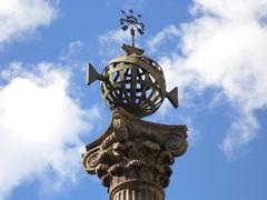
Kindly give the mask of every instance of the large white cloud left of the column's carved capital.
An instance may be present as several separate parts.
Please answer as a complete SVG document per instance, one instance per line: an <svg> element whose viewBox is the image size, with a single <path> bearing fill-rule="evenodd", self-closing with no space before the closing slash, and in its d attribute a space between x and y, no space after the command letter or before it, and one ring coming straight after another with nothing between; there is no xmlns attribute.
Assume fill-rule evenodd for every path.
<svg viewBox="0 0 267 200"><path fill-rule="evenodd" d="M26 180L46 182L52 172L50 187L58 187L80 170L80 137L99 111L79 107L69 93L70 72L56 67L29 71L14 62L0 71L0 200Z"/></svg>

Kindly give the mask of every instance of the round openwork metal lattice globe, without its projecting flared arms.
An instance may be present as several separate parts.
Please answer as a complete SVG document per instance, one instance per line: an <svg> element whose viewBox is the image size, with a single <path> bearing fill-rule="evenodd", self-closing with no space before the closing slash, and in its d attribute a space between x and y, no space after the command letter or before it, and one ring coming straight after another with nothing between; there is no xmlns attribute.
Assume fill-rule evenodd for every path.
<svg viewBox="0 0 267 200"><path fill-rule="evenodd" d="M154 113L165 99L166 84L159 64L147 57L123 56L111 60L102 76L101 90L106 104L122 107L138 117Z"/></svg>

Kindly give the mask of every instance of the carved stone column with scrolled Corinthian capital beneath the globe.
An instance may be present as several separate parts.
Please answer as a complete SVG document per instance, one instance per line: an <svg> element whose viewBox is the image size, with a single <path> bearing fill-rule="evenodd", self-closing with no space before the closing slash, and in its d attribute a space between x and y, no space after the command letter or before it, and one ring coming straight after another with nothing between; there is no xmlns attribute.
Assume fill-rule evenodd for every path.
<svg viewBox="0 0 267 200"><path fill-rule="evenodd" d="M186 138L186 126L144 121L117 108L107 131L86 147L83 168L102 180L110 200L164 200Z"/></svg>

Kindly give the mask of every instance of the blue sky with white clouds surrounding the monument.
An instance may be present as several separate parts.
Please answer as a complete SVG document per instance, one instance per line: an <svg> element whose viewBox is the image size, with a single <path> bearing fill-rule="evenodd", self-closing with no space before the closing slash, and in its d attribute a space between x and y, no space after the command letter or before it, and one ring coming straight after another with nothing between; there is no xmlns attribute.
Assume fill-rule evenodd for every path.
<svg viewBox="0 0 267 200"><path fill-rule="evenodd" d="M0 3L0 200L108 199L80 163L109 124L101 71L142 13L138 46L179 87L147 120L189 128L166 199L267 199L266 0L3 0Z"/></svg>

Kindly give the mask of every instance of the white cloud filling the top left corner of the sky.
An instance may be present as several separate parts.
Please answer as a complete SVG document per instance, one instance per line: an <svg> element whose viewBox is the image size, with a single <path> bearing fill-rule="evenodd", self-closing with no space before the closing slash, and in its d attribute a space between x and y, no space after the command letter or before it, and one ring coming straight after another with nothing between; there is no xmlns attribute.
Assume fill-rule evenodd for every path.
<svg viewBox="0 0 267 200"><path fill-rule="evenodd" d="M57 13L56 0L1 0L0 46L27 39L40 26L49 26Z"/></svg>

